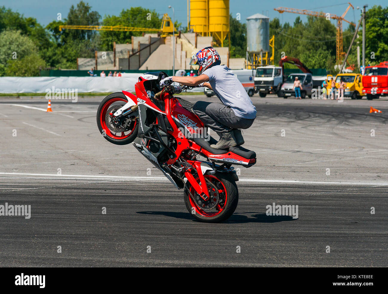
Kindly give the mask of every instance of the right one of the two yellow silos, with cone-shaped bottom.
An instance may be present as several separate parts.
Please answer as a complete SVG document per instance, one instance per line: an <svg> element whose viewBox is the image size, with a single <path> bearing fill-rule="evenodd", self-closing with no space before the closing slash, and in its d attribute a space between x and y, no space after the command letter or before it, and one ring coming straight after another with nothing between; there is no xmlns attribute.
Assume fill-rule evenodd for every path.
<svg viewBox="0 0 388 294"><path fill-rule="evenodd" d="M223 47L223 41L229 35L229 0L208 0L209 33Z"/></svg>

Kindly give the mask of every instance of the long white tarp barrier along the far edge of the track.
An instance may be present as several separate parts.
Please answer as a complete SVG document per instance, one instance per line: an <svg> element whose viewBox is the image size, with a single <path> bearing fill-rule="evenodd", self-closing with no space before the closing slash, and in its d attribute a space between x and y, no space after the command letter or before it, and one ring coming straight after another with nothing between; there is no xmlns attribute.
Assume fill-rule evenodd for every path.
<svg viewBox="0 0 388 294"><path fill-rule="evenodd" d="M78 93L89 92L135 92L140 73L125 73L125 76L105 78L99 76L58 76L58 77L0 77L0 93L47 93L54 89L77 89ZM189 92L203 92L194 88Z"/></svg>

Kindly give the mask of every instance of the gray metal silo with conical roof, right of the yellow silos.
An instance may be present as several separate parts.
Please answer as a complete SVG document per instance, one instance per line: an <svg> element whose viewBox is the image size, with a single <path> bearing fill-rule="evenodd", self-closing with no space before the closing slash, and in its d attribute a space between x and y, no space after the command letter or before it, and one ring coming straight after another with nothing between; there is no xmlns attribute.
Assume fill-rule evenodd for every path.
<svg viewBox="0 0 388 294"><path fill-rule="evenodd" d="M246 19L248 53L269 51L269 17L256 13Z"/></svg>

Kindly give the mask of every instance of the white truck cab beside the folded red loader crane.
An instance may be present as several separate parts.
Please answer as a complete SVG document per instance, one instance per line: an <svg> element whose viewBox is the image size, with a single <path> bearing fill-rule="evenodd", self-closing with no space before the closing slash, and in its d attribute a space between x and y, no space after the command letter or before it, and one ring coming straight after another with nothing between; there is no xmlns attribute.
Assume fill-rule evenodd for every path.
<svg viewBox="0 0 388 294"><path fill-rule="evenodd" d="M259 66L255 74L255 93L259 92L260 97L267 94L277 94L282 97L281 86L283 83L283 69L281 66Z"/></svg>

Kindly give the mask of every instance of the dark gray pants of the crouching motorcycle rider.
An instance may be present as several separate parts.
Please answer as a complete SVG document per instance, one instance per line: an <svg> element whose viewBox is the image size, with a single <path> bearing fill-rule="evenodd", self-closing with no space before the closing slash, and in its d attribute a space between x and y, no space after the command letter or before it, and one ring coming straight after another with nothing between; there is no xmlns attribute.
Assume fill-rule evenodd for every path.
<svg viewBox="0 0 388 294"><path fill-rule="evenodd" d="M193 111L208 126L217 133L225 133L232 129L247 129L254 118L240 118L234 114L233 109L221 103L198 101L194 104Z"/></svg>

